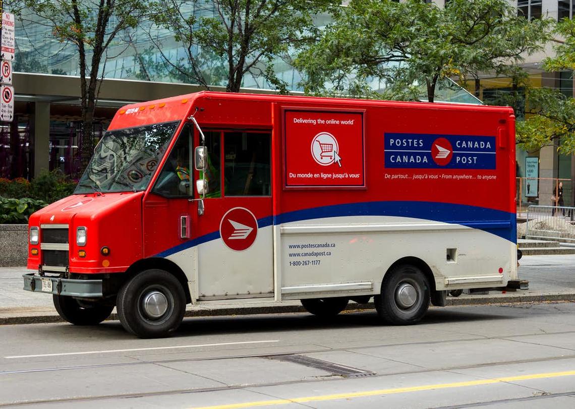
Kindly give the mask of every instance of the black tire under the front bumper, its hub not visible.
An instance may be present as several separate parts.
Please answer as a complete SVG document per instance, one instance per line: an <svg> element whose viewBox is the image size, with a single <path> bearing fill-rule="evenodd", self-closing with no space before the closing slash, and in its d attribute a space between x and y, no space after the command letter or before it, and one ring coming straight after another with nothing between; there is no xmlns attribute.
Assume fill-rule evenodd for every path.
<svg viewBox="0 0 575 409"><path fill-rule="evenodd" d="M74 325L97 325L112 314L114 305L103 302L76 300L70 296L52 295L58 314Z"/></svg>

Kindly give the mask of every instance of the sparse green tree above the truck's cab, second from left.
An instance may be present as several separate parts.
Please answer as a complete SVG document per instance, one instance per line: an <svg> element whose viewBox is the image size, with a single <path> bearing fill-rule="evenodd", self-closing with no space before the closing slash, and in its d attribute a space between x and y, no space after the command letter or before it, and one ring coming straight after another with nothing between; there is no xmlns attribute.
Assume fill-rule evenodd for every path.
<svg viewBox="0 0 575 409"><path fill-rule="evenodd" d="M223 82L239 92L244 76L262 77L286 92L273 70L278 58L313 41L313 17L334 0L164 0L155 5L154 21L174 33L184 55L162 52L171 75L209 89ZM151 36L153 38L153 36ZM223 61L219 63L218 61Z"/></svg>

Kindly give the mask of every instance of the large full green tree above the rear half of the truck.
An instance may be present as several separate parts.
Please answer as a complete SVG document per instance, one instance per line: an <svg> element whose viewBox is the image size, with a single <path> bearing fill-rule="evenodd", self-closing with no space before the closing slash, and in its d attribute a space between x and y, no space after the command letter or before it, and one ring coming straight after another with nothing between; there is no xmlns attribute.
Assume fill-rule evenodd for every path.
<svg viewBox="0 0 575 409"><path fill-rule="evenodd" d="M351 0L296 66L309 93L355 94L379 81L400 98L424 86L433 102L444 78L500 72L541 49L549 26L517 17L505 0L452 0L444 9L419 0Z"/></svg>

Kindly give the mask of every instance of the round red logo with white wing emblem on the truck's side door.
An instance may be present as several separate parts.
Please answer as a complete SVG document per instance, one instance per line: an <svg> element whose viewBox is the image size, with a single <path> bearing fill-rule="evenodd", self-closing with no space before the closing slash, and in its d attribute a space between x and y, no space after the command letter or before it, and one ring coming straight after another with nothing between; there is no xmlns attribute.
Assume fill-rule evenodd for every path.
<svg viewBox="0 0 575 409"><path fill-rule="evenodd" d="M220 221L220 236L224 244L234 251L251 247L258 236L258 220L254 213L243 207L229 209Z"/></svg>

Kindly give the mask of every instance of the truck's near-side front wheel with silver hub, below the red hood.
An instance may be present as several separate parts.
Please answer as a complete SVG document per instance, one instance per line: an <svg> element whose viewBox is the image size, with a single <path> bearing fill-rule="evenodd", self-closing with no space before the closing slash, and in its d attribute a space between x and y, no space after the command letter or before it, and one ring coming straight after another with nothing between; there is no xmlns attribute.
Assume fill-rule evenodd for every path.
<svg viewBox="0 0 575 409"><path fill-rule="evenodd" d="M118 292L116 304L125 330L140 338L161 338L182 323L186 296L172 274L151 269L128 280Z"/></svg>

